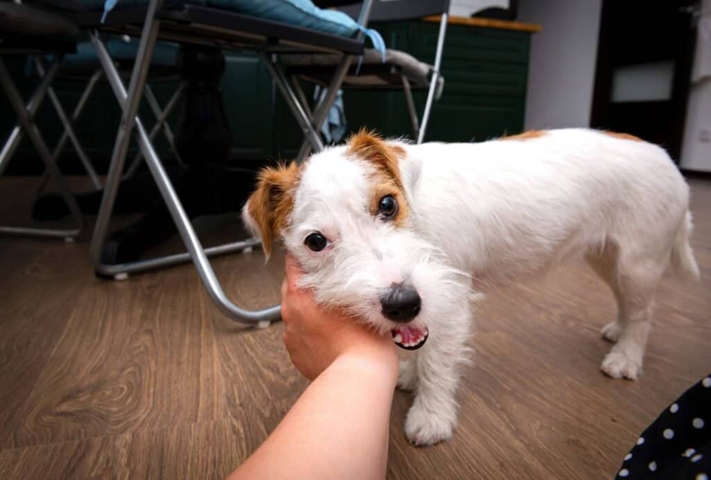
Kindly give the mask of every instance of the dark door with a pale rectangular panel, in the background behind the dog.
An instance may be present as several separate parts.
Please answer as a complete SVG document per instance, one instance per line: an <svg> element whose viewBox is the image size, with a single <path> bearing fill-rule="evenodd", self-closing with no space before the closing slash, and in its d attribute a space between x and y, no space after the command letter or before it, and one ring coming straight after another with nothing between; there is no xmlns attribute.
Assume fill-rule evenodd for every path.
<svg viewBox="0 0 711 480"><path fill-rule="evenodd" d="M697 1L604 0L590 124L632 133L678 161Z"/></svg>

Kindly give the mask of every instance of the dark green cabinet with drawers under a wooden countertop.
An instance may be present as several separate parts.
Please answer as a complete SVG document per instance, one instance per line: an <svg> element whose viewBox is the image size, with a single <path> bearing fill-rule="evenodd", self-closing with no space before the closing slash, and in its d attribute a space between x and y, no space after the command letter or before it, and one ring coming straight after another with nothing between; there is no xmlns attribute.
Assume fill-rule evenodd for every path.
<svg viewBox="0 0 711 480"><path fill-rule="evenodd" d="M434 62L439 23L379 26L391 48ZM442 55L444 90L434 104L429 141L481 141L523 129L530 33L449 25ZM415 92L422 115L426 92ZM395 92L346 92L351 129L362 125L388 136L412 137L405 98Z"/></svg>

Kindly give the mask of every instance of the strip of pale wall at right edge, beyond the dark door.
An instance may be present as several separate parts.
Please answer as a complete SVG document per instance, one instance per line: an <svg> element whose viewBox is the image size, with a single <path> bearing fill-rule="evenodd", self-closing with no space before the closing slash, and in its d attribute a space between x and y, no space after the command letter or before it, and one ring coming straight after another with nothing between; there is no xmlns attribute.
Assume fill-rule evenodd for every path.
<svg viewBox="0 0 711 480"><path fill-rule="evenodd" d="M704 0L702 11L711 21L711 0ZM701 55L697 45L697 58ZM707 55L710 55L707 53ZM706 141L702 141L706 131ZM711 77L691 85L684 143L681 150L681 168L711 172Z"/></svg>

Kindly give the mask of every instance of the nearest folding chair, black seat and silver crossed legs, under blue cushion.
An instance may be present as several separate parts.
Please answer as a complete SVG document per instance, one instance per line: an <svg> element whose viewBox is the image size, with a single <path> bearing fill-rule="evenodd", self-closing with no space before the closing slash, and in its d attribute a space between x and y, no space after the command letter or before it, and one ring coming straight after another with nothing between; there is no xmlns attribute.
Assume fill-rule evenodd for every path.
<svg viewBox="0 0 711 480"><path fill-rule="evenodd" d="M360 27L363 27L367 21L371 4L372 0L365 1L363 4L358 17L358 25ZM284 95L284 99L289 104L296 120L299 121L299 125L311 147L318 151L324 146L321 138L311 125L309 116L304 111L304 106L299 102L299 98L287 82L286 77L284 77L284 73L277 63L276 54L287 51L340 54L341 60L333 79L329 83L328 95L324 100L324 106L330 106L333 98L336 97L336 92L338 92L343 76L351 65L353 55L360 55L363 52L365 43L363 33L360 33L357 38L346 38L332 33L324 33L323 31L292 26L280 21L266 20L213 7L181 2L171 2L163 6L162 0L150 0L147 7L130 7L112 11L105 18L105 23L101 23L100 17L101 14L97 12L80 12L73 16L80 26L90 30L92 42L97 49L107 80L109 80L114 95L123 110L109 166L102 205L92 238L91 251L95 270L101 275L114 276L114 278L121 279L126 278L129 273L161 268L192 260L203 281L203 285L208 290L208 295L226 315L243 323L257 324L258 327L268 326L269 322L277 320L279 317L279 305L257 311L243 310L238 307L223 292L208 261L208 256L241 251L257 246L260 242L255 239L248 239L203 249L176 195L176 191L168 175L166 175L166 170L155 151L149 134L144 129L141 119L137 116L149 69L149 60L156 39L159 38L178 43L218 46L218 48L222 49L257 51L266 62L274 82ZM113 65L111 55L109 55L105 44L100 38L100 29L112 33L128 33L132 35L140 33L139 49L128 89L124 86L119 72ZM101 251L107 239L107 229L119 187L119 180L124 168L129 137L134 127L137 130L141 153L159 187L161 197L171 213L173 222L176 224L178 233L186 244L188 252L132 263L107 265L101 261Z"/></svg>

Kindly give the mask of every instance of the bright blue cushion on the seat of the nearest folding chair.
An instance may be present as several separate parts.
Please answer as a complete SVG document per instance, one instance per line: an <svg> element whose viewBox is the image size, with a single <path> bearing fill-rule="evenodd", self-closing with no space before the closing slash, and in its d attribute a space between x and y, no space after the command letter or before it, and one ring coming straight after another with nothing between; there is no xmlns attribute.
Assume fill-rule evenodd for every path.
<svg viewBox="0 0 711 480"><path fill-rule="evenodd" d="M102 10L105 7L104 0L79 1L90 10ZM343 37L353 37L359 30L358 23L346 13L319 9L311 0L187 0L187 3L244 13L264 20L288 23ZM148 0L117 0L114 8L147 4ZM170 5L171 0L166 0L166 4Z"/></svg>

